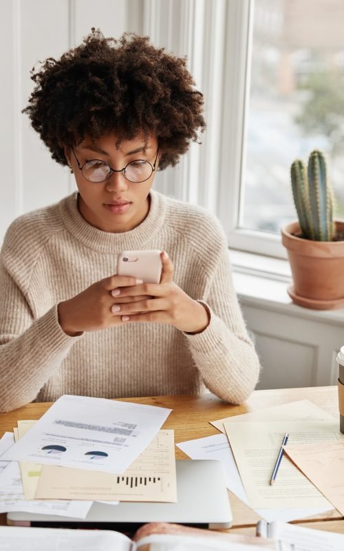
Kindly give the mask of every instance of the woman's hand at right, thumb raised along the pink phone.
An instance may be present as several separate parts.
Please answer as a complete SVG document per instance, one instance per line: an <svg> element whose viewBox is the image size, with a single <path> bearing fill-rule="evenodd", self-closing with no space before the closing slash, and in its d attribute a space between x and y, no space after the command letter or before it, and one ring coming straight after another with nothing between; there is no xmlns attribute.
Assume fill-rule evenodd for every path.
<svg viewBox="0 0 344 551"><path fill-rule="evenodd" d="M209 323L208 311L173 282L173 264L166 252L161 254L161 260L160 283L116 289L120 293L112 308L114 315L125 323L166 323L186 333L201 333ZM143 300L142 295L146 296ZM119 298L130 300L120 303Z"/></svg>

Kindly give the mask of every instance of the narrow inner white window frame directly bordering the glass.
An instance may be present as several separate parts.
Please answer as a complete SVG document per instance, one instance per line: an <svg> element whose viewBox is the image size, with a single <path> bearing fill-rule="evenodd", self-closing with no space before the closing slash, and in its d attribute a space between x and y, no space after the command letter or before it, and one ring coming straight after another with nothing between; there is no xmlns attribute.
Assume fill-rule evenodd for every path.
<svg viewBox="0 0 344 551"><path fill-rule="evenodd" d="M281 238L243 229L245 144L250 96L254 0L228 0L224 65L224 112L217 215L230 248L287 258Z"/></svg>

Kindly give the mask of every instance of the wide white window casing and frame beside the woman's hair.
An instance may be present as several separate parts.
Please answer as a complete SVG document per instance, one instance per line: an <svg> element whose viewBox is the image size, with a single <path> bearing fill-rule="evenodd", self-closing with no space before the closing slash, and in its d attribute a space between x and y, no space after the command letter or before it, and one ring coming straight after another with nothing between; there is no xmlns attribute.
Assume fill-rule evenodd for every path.
<svg viewBox="0 0 344 551"><path fill-rule="evenodd" d="M254 0L144 0L144 33L155 45L186 54L204 93L207 129L178 167L159 175L167 195L216 214L232 249L286 258L281 238L242 229L246 112Z"/></svg>

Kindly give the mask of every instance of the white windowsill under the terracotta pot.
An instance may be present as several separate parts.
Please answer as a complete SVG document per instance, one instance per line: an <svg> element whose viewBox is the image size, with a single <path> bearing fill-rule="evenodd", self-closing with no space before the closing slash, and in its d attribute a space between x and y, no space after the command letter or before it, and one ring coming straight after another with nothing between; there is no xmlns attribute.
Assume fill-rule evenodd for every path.
<svg viewBox="0 0 344 551"><path fill-rule="evenodd" d="M344 309L311 310L293 304L287 289L292 278L288 260L230 250L233 282L241 304L261 306L297 318L324 321L330 324L344 322Z"/></svg>

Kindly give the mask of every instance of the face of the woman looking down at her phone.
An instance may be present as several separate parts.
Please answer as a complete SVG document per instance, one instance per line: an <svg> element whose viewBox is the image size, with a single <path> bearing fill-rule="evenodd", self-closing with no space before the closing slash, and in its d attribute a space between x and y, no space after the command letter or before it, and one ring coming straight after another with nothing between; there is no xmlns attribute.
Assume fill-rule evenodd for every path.
<svg viewBox="0 0 344 551"><path fill-rule="evenodd" d="M72 149L65 150L79 191L80 214L92 226L113 233L129 231L146 218L149 211L148 195L155 171L148 180L141 183L129 182L123 172L114 172L105 182L92 183L83 176L78 163L83 167L87 161L98 159L105 161L112 169L120 170L131 161L148 160L153 166L158 152L158 141L153 136L149 137L144 152L142 136L122 141L118 148L116 141L117 137L114 134L103 136L96 141L85 138L74 147L75 155ZM157 158L155 170L158 160Z"/></svg>

